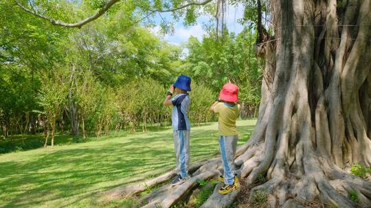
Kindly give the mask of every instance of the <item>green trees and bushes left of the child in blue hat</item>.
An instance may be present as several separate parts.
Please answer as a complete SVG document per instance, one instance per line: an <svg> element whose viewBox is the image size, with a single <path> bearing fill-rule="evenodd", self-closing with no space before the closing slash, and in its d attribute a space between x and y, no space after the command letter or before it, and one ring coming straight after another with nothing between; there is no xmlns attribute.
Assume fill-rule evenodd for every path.
<svg viewBox="0 0 371 208"><path fill-rule="evenodd" d="M104 2L84 1L78 12L89 14L102 8ZM75 8L70 8L74 4ZM65 14L76 10L76 3L70 1L59 4L37 1L34 5L47 8L45 14L66 21L71 19L62 15L63 9L71 9ZM0 3L1 10L5 11L0 14L3 20L0 26L4 28L0 31L0 93L5 95L5 99L0 100L0 123L7 129L3 133L5 137L7 133L30 133L27 122L37 120L38 114L45 114L52 122L50 125L63 128L60 125L64 123L68 129L71 124L69 103L77 103L80 123L84 120L85 129L95 135L108 134L113 129L119 131L128 124L133 129L139 125L146 129L147 122L151 125L169 122L169 113L161 103L164 86L177 75L181 48L161 42L148 29L137 27L133 2L117 5L124 12L110 12L89 27L76 31L30 18L30 14L17 7L14 12L8 1ZM60 7L63 9L58 10ZM149 99L137 100L135 113L129 115L135 114L137 119L130 121L122 112L128 113L135 107L122 109L118 102L126 101L119 99L118 94L126 83L146 77L156 80L157 91L150 93L152 82L142 84L146 94L140 96ZM130 94L124 97L130 99ZM141 105L144 105L144 112ZM36 130L44 129L38 127Z"/></svg>

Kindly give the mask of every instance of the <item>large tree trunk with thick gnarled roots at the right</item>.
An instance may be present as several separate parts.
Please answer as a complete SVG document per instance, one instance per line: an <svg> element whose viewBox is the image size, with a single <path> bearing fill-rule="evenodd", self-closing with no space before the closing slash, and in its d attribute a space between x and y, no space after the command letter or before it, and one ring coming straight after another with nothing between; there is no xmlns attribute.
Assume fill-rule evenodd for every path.
<svg viewBox="0 0 371 208"><path fill-rule="evenodd" d="M319 197L354 207L351 190L361 206L371 203L371 183L348 174L352 164L371 165L371 1L341 6L335 0L271 1L276 41L260 51L274 63L274 79L271 91L264 80L267 101L251 141L264 142L265 157L247 185L266 175L269 181L253 192L267 190L279 205ZM265 72L272 69L266 65Z"/></svg>

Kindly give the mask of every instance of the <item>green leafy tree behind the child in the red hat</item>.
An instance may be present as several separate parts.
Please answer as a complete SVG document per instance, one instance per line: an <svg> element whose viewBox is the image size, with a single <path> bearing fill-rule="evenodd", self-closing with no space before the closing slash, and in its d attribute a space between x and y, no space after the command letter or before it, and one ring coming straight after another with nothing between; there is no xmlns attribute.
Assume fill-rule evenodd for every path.
<svg viewBox="0 0 371 208"><path fill-rule="evenodd" d="M182 70L192 75L194 81L205 83L215 97L230 80L240 87L240 101L257 104L262 71L254 53L254 42L255 35L247 29L238 36L225 31L218 40L214 30L202 42L191 37L187 44L190 54Z"/></svg>

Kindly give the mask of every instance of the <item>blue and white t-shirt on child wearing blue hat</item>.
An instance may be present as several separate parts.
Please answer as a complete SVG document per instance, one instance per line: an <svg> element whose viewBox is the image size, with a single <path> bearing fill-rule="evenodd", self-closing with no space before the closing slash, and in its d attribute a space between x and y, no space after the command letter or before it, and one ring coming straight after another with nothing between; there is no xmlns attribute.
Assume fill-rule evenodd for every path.
<svg viewBox="0 0 371 208"><path fill-rule="evenodd" d="M187 117L187 109L190 107L190 96L187 94L177 94L171 99L172 105L172 129L174 131L190 130L190 120Z"/></svg>

